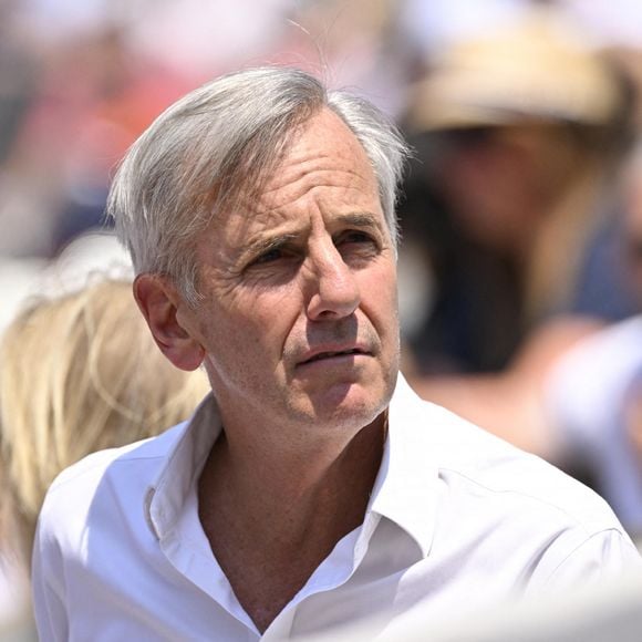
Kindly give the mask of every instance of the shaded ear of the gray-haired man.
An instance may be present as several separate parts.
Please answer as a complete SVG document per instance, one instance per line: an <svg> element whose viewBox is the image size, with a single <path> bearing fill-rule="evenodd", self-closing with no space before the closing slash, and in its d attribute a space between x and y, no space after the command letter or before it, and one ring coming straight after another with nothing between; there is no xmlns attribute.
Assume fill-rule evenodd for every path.
<svg viewBox="0 0 642 642"><path fill-rule="evenodd" d="M205 349L178 321L178 309L185 307L174 284L161 275L138 275L134 298L161 352L180 370L196 370L205 359Z"/></svg>

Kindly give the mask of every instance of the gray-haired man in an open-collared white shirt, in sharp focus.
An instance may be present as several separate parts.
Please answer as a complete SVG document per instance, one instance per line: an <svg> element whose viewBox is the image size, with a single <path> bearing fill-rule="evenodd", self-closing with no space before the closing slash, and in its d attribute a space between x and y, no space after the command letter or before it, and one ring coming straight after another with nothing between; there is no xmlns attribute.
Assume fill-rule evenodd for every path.
<svg viewBox="0 0 642 642"><path fill-rule="evenodd" d="M404 156L372 106L288 69L206 85L127 154L110 210L136 300L213 394L54 483L34 551L43 640L383 627L640 565L597 496L397 377Z"/></svg>

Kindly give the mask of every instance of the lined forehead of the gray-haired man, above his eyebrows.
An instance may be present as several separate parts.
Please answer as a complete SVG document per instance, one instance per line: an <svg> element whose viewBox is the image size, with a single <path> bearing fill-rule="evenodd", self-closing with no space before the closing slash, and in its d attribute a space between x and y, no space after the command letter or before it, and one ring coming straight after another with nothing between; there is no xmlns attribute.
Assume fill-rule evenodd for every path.
<svg viewBox="0 0 642 642"><path fill-rule="evenodd" d="M323 225L370 219L385 234L379 184L363 147L333 112L303 123L256 189L239 190L197 241L201 265L232 270L248 248L277 238L303 238Z"/></svg>

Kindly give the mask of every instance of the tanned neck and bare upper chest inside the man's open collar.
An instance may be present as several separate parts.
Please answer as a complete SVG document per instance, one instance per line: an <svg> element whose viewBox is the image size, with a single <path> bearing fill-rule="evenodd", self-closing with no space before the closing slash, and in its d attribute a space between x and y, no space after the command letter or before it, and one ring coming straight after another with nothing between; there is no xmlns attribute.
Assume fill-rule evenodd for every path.
<svg viewBox="0 0 642 642"><path fill-rule="evenodd" d="M244 449L229 431L215 444L199 479L199 517L260 631L363 522L385 432L382 414L334 451Z"/></svg>

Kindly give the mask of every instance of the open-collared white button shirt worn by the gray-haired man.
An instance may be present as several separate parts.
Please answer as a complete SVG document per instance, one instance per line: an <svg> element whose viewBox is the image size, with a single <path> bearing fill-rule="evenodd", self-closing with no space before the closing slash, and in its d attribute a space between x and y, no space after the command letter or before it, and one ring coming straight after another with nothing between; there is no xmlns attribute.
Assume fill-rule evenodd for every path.
<svg viewBox="0 0 642 642"><path fill-rule="evenodd" d="M282 640L372 614L381 630L417 604L426 621L460 618L624 567L642 570L601 498L421 401L402 377L389 420L363 525L262 635L198 520L196 484L220 432L211 396L189 423L65 470L48 494L34 548L41 640Z"/></svg>

